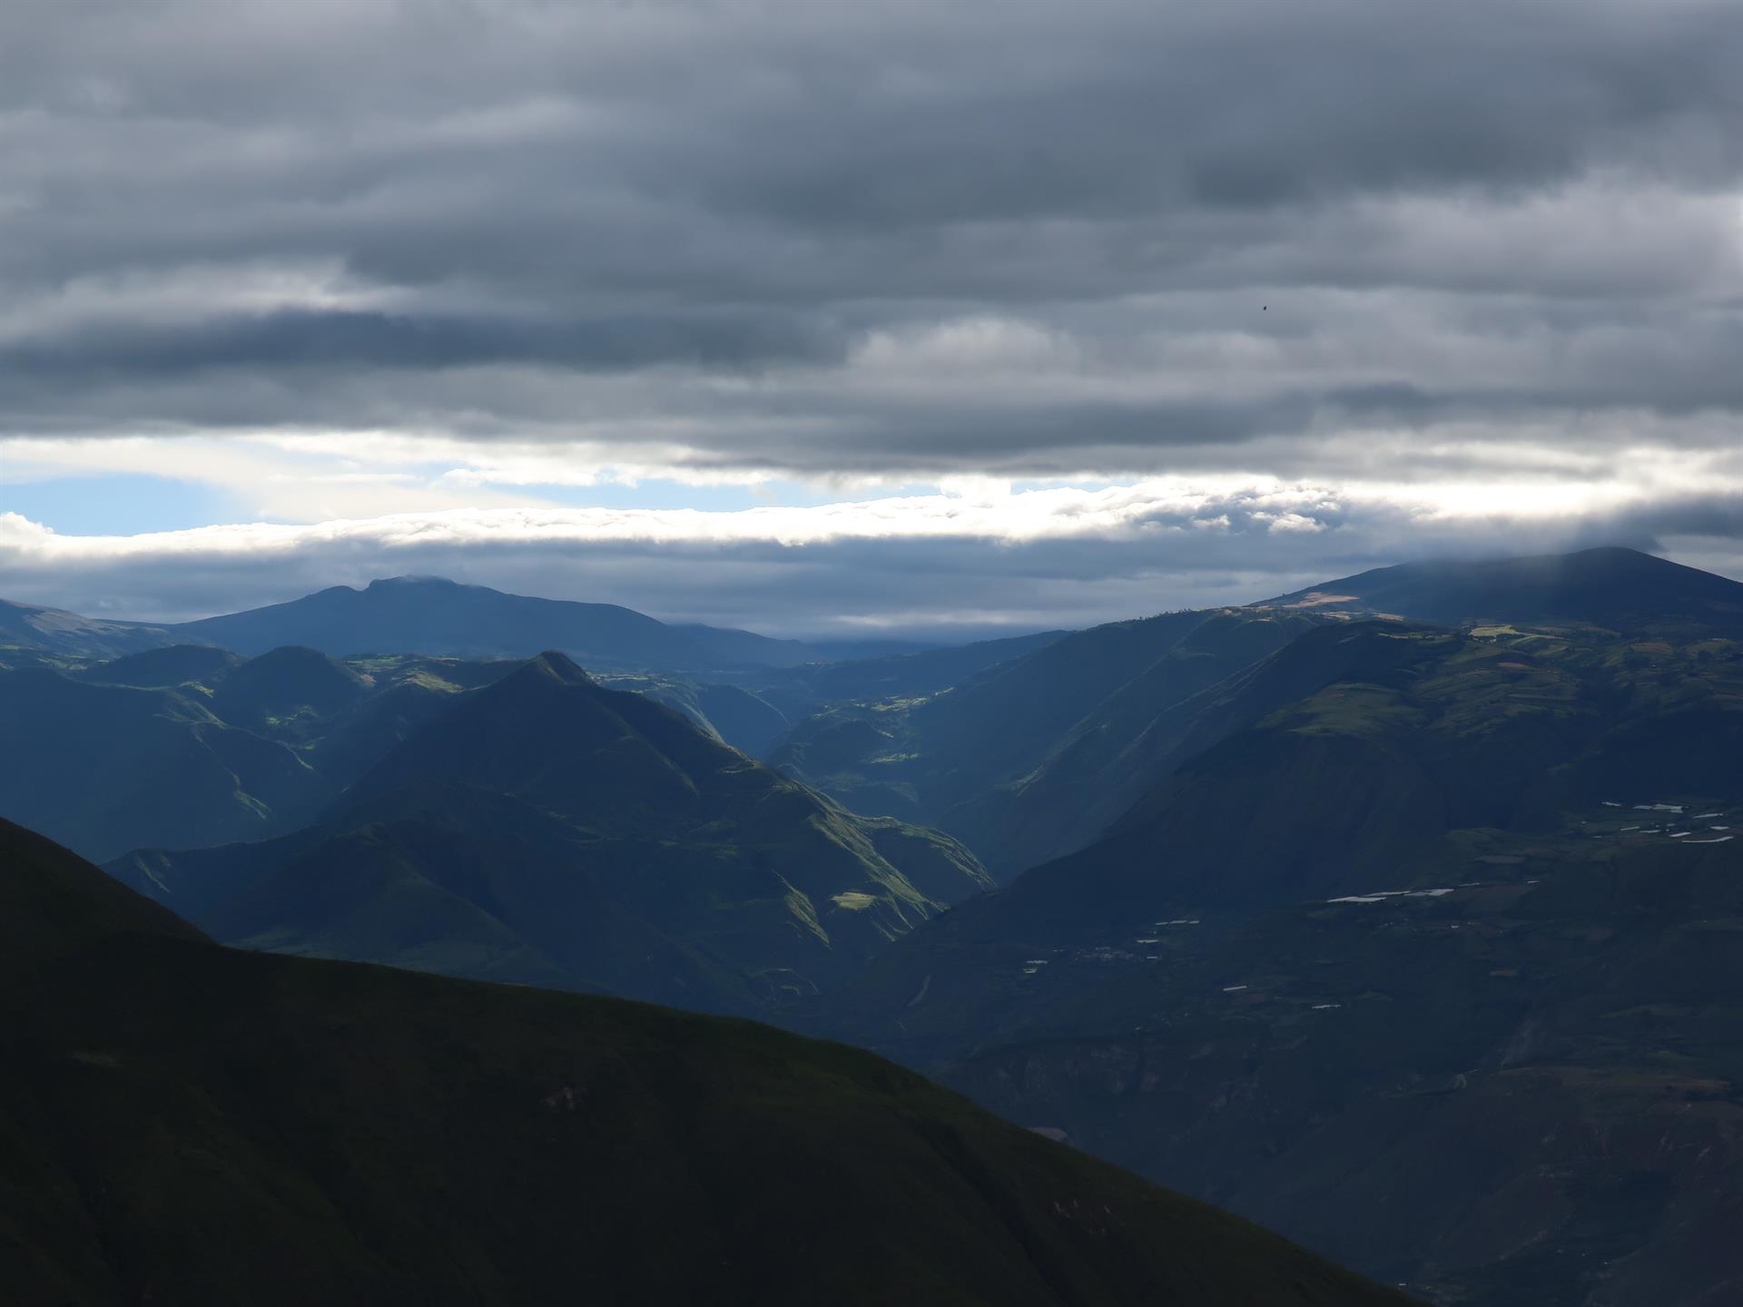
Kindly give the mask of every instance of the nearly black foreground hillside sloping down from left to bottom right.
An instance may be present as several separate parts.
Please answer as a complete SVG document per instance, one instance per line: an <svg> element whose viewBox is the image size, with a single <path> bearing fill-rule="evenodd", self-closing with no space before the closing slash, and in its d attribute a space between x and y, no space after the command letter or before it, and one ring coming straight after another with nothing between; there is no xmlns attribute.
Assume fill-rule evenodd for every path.
<svg viewBox="0 0 1743 1307"><path fill-rule="evenodd" d="M17 1302L1401 1304L878 1058L237 953L0 823Z"/></svg>

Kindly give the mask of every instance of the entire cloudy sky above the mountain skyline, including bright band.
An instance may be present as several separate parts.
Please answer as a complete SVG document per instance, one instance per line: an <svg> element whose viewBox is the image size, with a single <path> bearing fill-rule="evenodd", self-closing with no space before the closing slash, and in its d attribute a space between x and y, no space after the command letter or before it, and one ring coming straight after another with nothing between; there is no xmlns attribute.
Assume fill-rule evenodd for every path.
<svg viewBox="0 0 1743 1307"><path fill-rule="evenodd" d="M1743 579L1736 0L9 0L0 596Z"/></svg>

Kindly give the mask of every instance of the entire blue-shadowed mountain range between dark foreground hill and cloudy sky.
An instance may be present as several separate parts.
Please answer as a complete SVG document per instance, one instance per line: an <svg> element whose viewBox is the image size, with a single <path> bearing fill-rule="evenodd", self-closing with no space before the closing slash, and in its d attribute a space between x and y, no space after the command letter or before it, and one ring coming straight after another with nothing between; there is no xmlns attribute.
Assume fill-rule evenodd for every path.
<svg viewBox="0 0 1743 1307"><path fill-rule="evenodd" d="M249 950L870 1047L1448 1307L1710 1307L1740 612L1600 549L708 676L37 650L0 814Z"/></svg>

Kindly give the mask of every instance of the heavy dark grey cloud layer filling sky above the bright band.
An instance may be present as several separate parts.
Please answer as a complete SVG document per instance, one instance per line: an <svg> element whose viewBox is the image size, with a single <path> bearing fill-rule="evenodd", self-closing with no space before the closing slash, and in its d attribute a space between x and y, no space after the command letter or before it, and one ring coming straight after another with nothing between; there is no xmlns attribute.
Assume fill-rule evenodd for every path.
<svg viewBox="0 0 1743 1307"><path fill-rule="evenodd" d="M1734 416L1740 66L1682 0L26 0L0 430L1044 474ZM1060 349L927 335L981 319Z"/></svg>

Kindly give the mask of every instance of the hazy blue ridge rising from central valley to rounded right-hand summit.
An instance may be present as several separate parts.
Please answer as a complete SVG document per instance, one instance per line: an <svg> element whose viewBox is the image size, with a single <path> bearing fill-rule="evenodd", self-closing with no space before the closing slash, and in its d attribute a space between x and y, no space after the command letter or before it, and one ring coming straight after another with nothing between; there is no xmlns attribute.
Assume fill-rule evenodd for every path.
<svg viewBox="0 0 1743 1307"><path fill-rule="evenodd" d="M1248 608L1079 631L946 694L826 706L769 758L851 807L950 831L1007 880L1086 847L1236 723L1353 676L1346 655L1384 660L1384 641L1309 634L1377 615L1475 631L1485 647L1518 620L1652 660L1656 647L1616 652L1621 633L1734 633L1743 586L1628 549L1384 568ZM1560 648L1550 634L1513 643L1534 664Z"/></svg>

